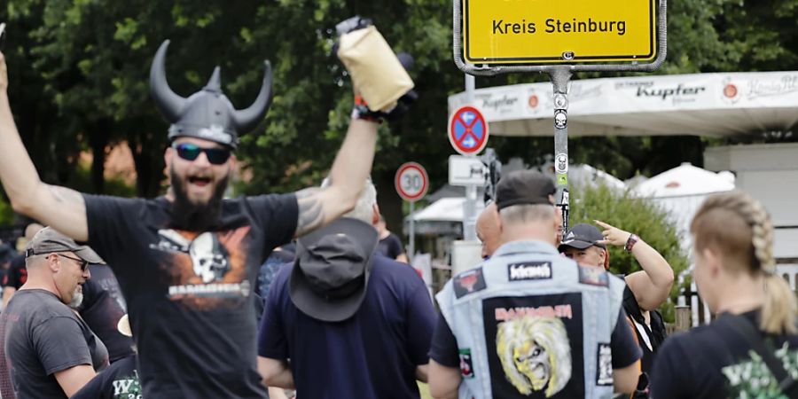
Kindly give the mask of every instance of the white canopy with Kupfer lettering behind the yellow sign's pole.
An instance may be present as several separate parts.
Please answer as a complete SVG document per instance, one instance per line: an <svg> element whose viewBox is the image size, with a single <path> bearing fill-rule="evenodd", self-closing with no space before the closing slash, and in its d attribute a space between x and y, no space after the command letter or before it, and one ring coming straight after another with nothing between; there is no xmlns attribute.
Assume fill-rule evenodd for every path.
<svg viewBox="0 0 798 399"><path fill-rule="evenodd" d="M491 135L552 136L552 83L474 91ZM798 124L798 71L650 75L573 81L570 136L731 136ZM450 96L449 111L468 104Z"/></svg>

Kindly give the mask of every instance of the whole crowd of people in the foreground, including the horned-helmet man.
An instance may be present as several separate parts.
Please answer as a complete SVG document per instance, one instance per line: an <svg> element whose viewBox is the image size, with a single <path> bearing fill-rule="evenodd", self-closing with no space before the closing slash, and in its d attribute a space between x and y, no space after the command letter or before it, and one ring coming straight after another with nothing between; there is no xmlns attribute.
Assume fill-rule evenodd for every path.
<svg viewBox="0 0 798 399"><path fill-rule="evenodd" d="M270 68L237 110L218 71L173 92L167 48L151 90L171 123L170 187L154 200L43 183L0 53L0 180L42 223L24 254L0 247L3 398L408 398L417 381L436 398L795 397L795 298L756 200L700 208L694 278L721 316L666 338L668 262L607 223L561 231L552 179L513 172L478 220L484 262L446 283L436 311L379 215L379 113L355 106L320 187L224 199L239 137L269 108ZM610 273L608 246L642 270Z"/></svg>

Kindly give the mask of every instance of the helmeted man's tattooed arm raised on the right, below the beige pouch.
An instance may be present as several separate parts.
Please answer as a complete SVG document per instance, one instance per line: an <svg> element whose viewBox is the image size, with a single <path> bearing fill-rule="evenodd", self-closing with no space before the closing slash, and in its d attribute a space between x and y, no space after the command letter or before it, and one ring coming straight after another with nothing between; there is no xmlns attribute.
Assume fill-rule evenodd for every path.
<svg viewBox="0 0 798 399"><path fill-rule="evenodd" d="M364 182L372 171L377 124L359 119L349 123L347 137L332 163L331 184L324 189L296 192L299 217L296 237L332 222L355 207Z"/></svg>

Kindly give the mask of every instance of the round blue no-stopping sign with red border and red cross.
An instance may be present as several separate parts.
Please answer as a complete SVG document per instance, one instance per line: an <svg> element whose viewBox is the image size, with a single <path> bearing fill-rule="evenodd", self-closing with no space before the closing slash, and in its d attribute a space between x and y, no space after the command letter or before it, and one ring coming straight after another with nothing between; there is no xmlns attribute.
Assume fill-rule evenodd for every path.
<svg viewBox="0 0 798 399"><path fill-rule="evenodd" d="M449 117L449 142L463 155L480 153L488 144L488 122L479 109L461 106Z"/></svg>

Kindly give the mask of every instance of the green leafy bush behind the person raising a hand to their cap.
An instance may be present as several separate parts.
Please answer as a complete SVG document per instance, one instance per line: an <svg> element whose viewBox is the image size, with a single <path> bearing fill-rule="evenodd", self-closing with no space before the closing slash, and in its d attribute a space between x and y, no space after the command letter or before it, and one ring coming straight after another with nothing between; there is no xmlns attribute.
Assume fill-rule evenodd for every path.
<svg viewBox="0 0 798 399"><path fill-rule="evenodd" d="M676 226L667 214L652 201L636 198L629 191L616 192L605 185L571 188L570 226L577 223L593 223L600 220L640 236L656 249L673 269L676 281L689 264L685 251L679 246ZM599 227L599 226L597 226ZM599 229L601 229L599 227ZM619 246L610 247L610 270L616 274L630 274L642 270L632 254ZM678 285L674 283L670 300L662 304L661 312L666 321L673 322L673 307L678 293L690 279Z"/></svg>

